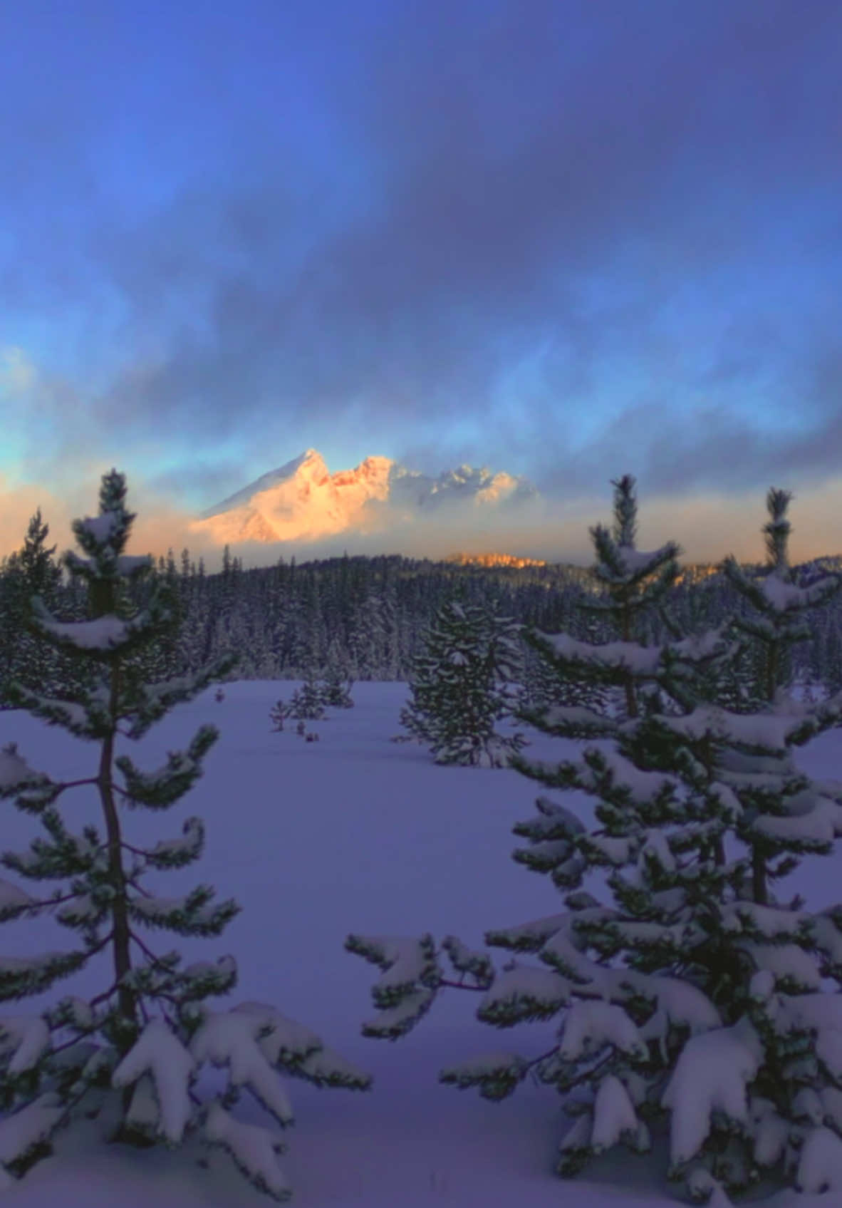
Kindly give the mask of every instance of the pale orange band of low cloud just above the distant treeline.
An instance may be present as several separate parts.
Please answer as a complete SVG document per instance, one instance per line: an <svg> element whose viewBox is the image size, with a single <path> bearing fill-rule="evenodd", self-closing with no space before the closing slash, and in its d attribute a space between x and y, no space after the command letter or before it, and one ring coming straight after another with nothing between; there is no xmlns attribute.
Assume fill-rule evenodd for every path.
<svg viewBox="0 0 842 1208"><path fill-rule="evenodd" d="M791 480L770 481L767 486L785 486ZM687 562L719 562L726 554L748 562L765 559L761 528L766 522L765 490L738 494L716 490L686 492L676 496L668 492L639 486L640 547L655 547L676 540ZM70 522L75 516L95 513L98 480L91 482L80 507L72 510L64 499L31 486L11 486L0 478L0 557L21 547L23 534L36 507L50 523L50 540L58 552L74 546ZM162 504L159 493L143 481L129 480L129 505L138 513L132 536L135 553L176 557L188 548L193 561L204 558L209 570L221 565L222 550L208 533L197 532L194 515L175 504ZM818 486L795 492L791 507L794 523L792 557L803 561L819 554L842 552L842 477L828 478ZM501 552L548 562L592 561L588 529L611 521L611 487L608 480L599 489L588 488L567 501L540 498L517 509L497 513L442 511L419 515L413 522L397 521L368 532L341 532L323 540L289 542L239 542L233 552L246 567L269 565L279 558L297 561L358 553L401 553L408 557L439 558L452 553Z"/></svg>

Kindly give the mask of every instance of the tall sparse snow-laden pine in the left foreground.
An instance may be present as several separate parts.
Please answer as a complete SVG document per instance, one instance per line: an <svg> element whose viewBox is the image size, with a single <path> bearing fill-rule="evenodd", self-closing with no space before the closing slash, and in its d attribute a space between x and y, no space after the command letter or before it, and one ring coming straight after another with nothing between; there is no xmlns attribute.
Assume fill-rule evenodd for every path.
<svg viewBox="0 0 842 1208"><path fill-rule="evenodd" d="M87 582L88 620L60 622L43 602L33 603L35 632L85 662L93 686L75 701L11 686L18 707L95 744L98 759L91 777L65 783L33 771L13 747L0 753L0 796L11 797L45 831L29 850L6 852L0 863L27 879L58 883L52 893L33 896L0 882L0 919L54 912L77 935L66 952L0 958L0 999L40 994L99 952L110 954L114 972L89 1000L69 995L40 1014L0 1016L0 1107L6 1113L0 1179L10 1183L45 1156L52 1134L82 1111L101 1111L109 1139L223 1146L256 1187L284 1200L290 1189L277 1161L279 1133L237 1120L231 1109L240 1090L248 1088L284 1127L292 1110L279 1071L319 1086L365 1087L370 1079L272 1006L211 1009L208 1000L236 985L233 957L184 966L176 951L156 953L144 937L149 928L215 936L239 907L231 899L214 901L205 884L178 898L143 885L147 871L181 869L199 858L204 826L198 817L184 823L180 837L152 847L123 837L126 807L167 809L192 788L217 731L202 726L186 750L172 751L151 772L117 755L117 744L143 738L175 703L194 697L231 666L225 660L190 676L152 686L143 681L134 655L169 618L155 591L143 609L129 605L129 582L151 570L150 558L123 552L133 519L123 476L104 475L99 515L72 525L85 557L65 554L69 569ZM66 825L58 802L71 789L98 795L104 835L93 825L81 834ZM194 1080L208 1061L228 1068L228 1087L202 1102Z"/></svg>

